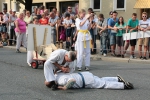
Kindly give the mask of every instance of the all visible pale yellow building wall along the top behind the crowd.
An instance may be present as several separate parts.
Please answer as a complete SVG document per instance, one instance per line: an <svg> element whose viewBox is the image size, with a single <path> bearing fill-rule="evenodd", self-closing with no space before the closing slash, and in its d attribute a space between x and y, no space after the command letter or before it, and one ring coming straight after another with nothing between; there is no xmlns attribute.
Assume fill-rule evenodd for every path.
<svg viewBox="0 0 150 100"><path fill-rule="evenodd" d="M59 2L64 2L64 1L79 1L79 9L85 9L87 10L90 7L90 0L33 0L33 3L43 3L43 5L45 5L47 2L56 2L56 7L57 9L59 9ZM101 11L95 11L97 13L97 15L99 13L103 13L105 18L109 17L109 12L114 10L113 6L114 6L114 0L102 0L102 7L101 7ZM133 12L138 14L138 19L140 19L140 9L133 9L135 3L137 0L126 0L126 10L125 11L117 11L118 12L118 17L119 16L123 16L125 21L127 21ZM10 9L10 5L11 5L11 9L14 8L14 4L13 1L10 0L0 0L0 11L2 11L2 2L7 2L8 3L8 10ZM23 11L24 9L24 5L20 4L20 11Z"/></svg>

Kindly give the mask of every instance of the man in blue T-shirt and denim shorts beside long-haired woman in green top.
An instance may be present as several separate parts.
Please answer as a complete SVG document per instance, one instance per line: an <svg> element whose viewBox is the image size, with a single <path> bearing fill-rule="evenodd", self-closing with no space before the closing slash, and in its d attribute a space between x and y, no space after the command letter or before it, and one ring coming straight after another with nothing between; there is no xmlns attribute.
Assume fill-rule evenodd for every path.
<svg viewBox="0 0 150 100"><path fill-rule="evenodd" d="M110 46L112 56L116 56L115 49L116 49L116 30L114 28L115 24L118 22L117 18L118 13L116 11L113 12L113 17L108 20L108 28L111 30L110 32Z"/></svg>

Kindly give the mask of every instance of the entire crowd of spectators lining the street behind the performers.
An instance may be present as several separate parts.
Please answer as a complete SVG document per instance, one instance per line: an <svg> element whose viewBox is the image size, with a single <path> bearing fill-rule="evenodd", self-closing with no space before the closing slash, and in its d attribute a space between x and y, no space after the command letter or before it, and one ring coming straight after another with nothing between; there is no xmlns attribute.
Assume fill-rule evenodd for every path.
<svg viewBox="0 0 150 100"><path fill-rule="evenodd" d="M123 16L118 17L116 11L109 13L110 18L105 18L103 14L97 16L92 8L88 9L88 14L92 15L89 18L89 20L92 20L91 29L89 30L92 37L91 54L96 54L97 50L100 50L103 56L107 56L107 54L111 52L111 56L124 58L126 50L131 46L130 58L134 59L136 58L134 53L135 46L138 43L139 58L147 59L149 38L123 40L123 34L125 33L137 31L146 32L150 29L150 21L147 18L146 12L142 13L142 20L138 20L137 14L133 13L128 22L124 21ZM56 44L57 41L58 29L58 40L65 41L65 48L70 50L75 46L74 43L77 37L77 29L75 26L76 18L78 18L78 14L72 11L71 6L68 6L64 14L57 11L57 8L53 8L52 11L49 11L44 6L40 8L35 7L33 12L24 10L19 14L16 14L14 10L10 10L8 13L4 8L3 11L0 12L0 43L3 46L16 45L16 52L20 53L20 46L23 45L27 49L26 30L28 24L41 24L51 26L54 44ZM56 24L58 27L56 27ZM96 46L96 39L100 40L100 48ZM143 55L142 45L144 46ZM116 49L119 51L118 53L116 53Z"/></svg>

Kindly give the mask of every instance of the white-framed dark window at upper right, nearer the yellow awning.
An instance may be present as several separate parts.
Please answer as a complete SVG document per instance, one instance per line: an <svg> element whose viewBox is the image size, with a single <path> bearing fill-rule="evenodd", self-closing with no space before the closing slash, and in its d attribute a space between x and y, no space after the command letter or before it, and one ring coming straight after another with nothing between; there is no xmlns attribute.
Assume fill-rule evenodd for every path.
<svg viewBox="0 0 150 100"><path fill-rule="evenodd" d="M125 10L126 0L114 0L114 8L115 10Z"/></svg>

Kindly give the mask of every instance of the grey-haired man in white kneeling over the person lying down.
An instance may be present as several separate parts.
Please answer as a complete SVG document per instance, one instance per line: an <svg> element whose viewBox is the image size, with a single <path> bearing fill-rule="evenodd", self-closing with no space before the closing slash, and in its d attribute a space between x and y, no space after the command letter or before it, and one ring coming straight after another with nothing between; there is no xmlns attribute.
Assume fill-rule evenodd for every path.
<svg viewBox="0 0 150 100"><path fill-rule="evenodd" d="M55 72L58 70L64 73L73 72L75 68L70 64L73 64L75 59L76 53L73 51L58 49L52 52L50 58L44 64L45 85L52 89L57 88Z"/></svg>

